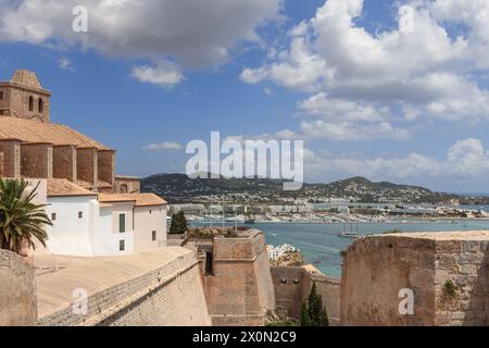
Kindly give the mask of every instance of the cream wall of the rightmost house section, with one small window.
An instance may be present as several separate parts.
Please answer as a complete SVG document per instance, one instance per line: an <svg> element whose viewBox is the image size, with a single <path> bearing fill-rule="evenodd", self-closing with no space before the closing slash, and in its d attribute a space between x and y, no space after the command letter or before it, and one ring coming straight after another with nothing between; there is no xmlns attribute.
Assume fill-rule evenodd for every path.
<svg viewBox="0 0 489 348"><path fill-rule="evenodd" d="M135 213L135 252L158 249L166 245L166 206L136 207ZM152 233L156 232L156 240Z"/></svg>

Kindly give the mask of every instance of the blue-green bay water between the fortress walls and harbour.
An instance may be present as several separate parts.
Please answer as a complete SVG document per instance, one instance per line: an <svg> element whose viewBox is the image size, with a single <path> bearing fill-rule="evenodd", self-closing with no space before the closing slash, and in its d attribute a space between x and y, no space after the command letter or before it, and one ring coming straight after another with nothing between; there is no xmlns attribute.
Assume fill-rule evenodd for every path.
<svg viewBox="0 0 489 348"><path fill-rule="evenodd" d="M278 246L290 244L299 248L308 263L314 264L328 276L341 276L340 251L346 250L353 239L342 238L338 233L343 224L306 224L306 223L256 223L254 228L265 233L266 243ZM350 228L348 226L348 228ZM409 223L359 223L359 234L366 236L381 234L386 231L402 232L452 232L489 229L489 221L464 220L451 222L409 222ZM356 225L353 231L356 232Z"/></svg>

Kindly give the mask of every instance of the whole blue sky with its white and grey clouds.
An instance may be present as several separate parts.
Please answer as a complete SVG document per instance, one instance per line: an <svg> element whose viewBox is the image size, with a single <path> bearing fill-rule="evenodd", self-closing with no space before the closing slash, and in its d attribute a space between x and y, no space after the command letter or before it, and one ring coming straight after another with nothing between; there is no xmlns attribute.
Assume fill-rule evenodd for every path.
<svg viewBox="0 0 489 348"><path fill-rule="evenodd" d="M72 29L76 5L88 32ZM188 141L304 140L304 176L489 191L487 0L0 0L0 80L51 121L183 173Z"/></svg>

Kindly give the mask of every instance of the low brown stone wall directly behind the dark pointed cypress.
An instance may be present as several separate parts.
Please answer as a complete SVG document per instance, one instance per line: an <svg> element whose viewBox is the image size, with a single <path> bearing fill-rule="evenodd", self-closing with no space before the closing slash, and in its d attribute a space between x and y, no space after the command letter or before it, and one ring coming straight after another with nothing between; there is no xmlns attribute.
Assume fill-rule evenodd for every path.
<svg viewBox="0 0 489 348"><path fill-rule="evenodd" d="M341 283L326 277L313 266L273 266L277 311L281 318L299 320L301 307L311 294L313 282L328 313L329 325L339 324Z"/></svg>

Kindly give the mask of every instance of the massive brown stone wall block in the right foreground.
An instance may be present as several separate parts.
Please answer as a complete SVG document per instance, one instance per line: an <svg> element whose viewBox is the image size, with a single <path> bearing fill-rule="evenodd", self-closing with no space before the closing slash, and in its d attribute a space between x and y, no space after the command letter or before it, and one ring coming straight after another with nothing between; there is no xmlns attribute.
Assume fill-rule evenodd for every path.
<svg viewBox="0 0 489 348"><path fill-rule="evenodd" d="M343 262L341 323L487 325L488 243L488 232L399 234L356 240ZM450 283L454 284L453 296L447 295L446 284ZM413 291L412 315L400 313L402 289Z"/></svg>

